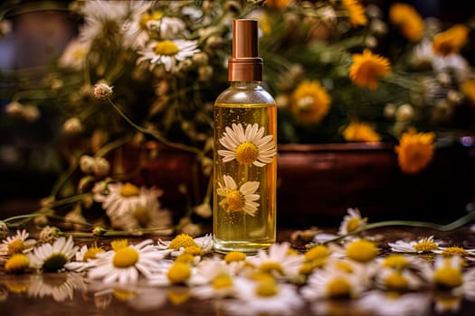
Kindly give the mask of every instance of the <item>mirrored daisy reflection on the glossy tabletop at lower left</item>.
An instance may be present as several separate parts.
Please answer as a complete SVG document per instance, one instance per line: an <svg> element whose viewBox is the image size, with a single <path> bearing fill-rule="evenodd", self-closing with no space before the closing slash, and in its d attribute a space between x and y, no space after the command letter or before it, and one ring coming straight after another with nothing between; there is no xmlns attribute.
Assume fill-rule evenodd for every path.
<svg viewBox="0 0 475 316"><path fill-rule="evenodd" d="M43 274L30 277L28 295L33 298L51 296L55 302L72 300L75 290L85 290L84 279L80 274L56 274L54 282L48 282Z"/></svg>

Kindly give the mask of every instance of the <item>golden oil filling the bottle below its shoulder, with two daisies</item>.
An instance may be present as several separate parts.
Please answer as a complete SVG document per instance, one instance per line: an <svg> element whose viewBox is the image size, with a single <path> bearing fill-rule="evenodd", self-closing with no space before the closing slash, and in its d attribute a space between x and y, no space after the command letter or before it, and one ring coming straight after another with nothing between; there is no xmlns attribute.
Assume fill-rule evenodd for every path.
<svg viewBox="0 0 475 316"><path fill-rule="evenodd" d="M276 241L275 103L214 105L214 249L255 253Z"/></svg>

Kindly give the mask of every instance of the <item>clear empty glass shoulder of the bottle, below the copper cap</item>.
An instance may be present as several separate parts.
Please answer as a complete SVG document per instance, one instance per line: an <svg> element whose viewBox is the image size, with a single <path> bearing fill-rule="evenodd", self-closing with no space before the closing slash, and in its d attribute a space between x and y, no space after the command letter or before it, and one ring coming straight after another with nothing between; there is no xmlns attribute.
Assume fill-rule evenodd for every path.
<svg viewBox="0 0 475 316"><path fill-rule="evenodd" d="M216 103L230 104L275 104L271 94L259 85L231 86L216 98Z"/></svg>

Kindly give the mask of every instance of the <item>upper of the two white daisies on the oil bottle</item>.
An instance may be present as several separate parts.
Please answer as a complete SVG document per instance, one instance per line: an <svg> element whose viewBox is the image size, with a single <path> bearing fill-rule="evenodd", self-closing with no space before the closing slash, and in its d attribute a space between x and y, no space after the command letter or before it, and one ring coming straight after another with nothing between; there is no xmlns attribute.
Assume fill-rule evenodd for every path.
<svg viewBox="0 0 475 316"><path fill-rule="evenodd" d="M277 153L272 137L272 135L264 136L264 127L259 128L257 124L248 124L245 131L241 123L233 124L232 128L226 126L223 137L219 140L226 149L218 150L218 154L223 156L223 163L235 159L238 163L252 163L257 167L263 167L266 163L271 163Z"/></svg>

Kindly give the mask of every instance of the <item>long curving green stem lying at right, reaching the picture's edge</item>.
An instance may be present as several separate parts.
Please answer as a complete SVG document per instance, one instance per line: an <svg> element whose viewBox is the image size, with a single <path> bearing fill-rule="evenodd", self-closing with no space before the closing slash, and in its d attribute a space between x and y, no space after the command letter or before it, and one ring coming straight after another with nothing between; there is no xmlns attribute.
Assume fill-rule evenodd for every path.
<svg viewBox="0 0 475 316"><path fill-rule="evenodd" d="M353 232L347 233L342 236L338 236L332 239L329 239L322 244L329 244L336 242L338 240L341 240L343 238L346 238L348 236L353 236L357 235L359 233L362 233L367 230L375 229L375 228L386 228L386 227L394 227L394 226L405 226L405 227L413 227L413 228L428 228L428 229L433 229L433 230L438 230L442 232L447 232L451 230L455 230L457 228L461 228L467 223L470 223L470 221L475 219L475 211L470 211L467 215L452 221L449 224L446 225L439 225L439 224L434 224L430 222L424 222L424 221L411 221L411 220L386 220L378 223L373 223L373 224L368 224L364 228L359 228L356 229Z"/></svg>

